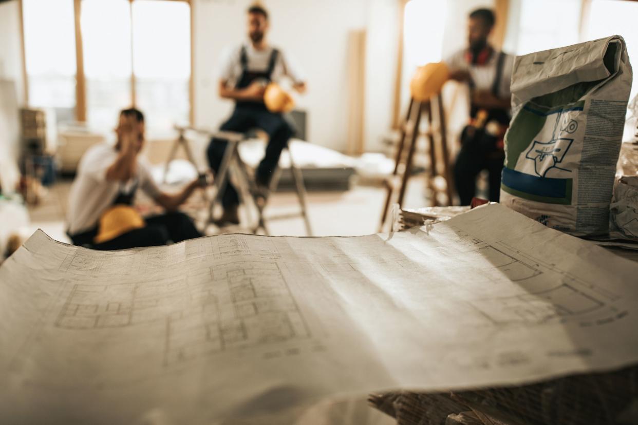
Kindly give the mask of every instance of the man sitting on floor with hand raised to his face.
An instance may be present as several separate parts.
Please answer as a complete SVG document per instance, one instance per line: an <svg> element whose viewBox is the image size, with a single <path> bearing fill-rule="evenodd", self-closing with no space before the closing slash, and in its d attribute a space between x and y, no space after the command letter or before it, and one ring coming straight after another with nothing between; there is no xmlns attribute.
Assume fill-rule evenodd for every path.
<svg viewBox="0 0 638 425"><path fill-rule="evenodd" d="M177 194L161 192L138 156L144 146L144 115L123 110L115 129L117 143L91 147L78 165L68 205L68 235L74 245L118 250L166 245L202 236L177 207L200 186L199 180ZM133 208L142 189L167 213L142 219Z"/></svg>

